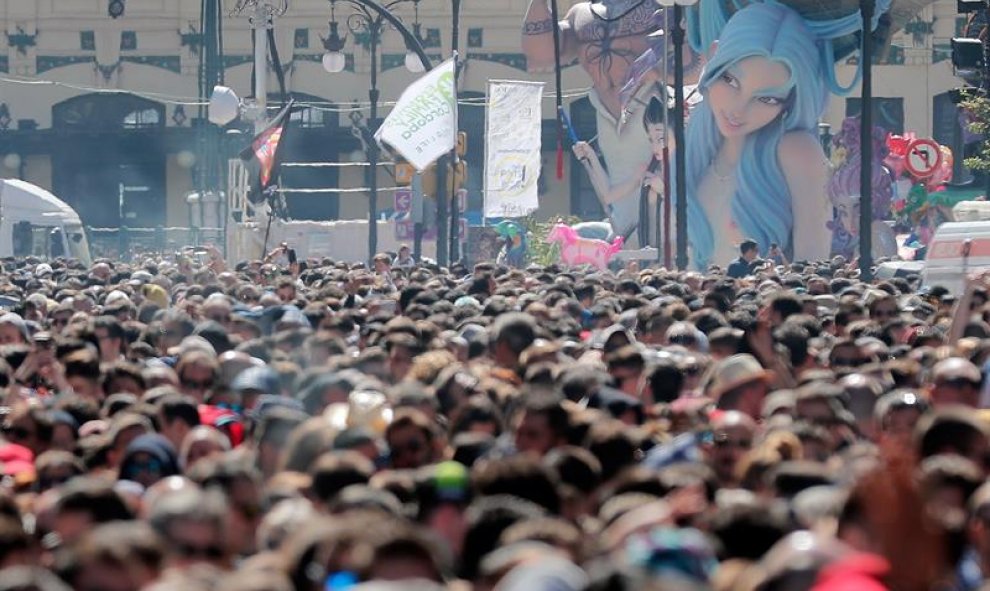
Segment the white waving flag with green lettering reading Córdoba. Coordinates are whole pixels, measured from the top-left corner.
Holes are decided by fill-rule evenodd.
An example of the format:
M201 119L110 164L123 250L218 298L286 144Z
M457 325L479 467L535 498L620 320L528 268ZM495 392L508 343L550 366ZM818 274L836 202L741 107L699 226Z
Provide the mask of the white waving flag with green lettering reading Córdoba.
M422 171L454 149L456 135L454 60L449 59L406 88L375 139Z

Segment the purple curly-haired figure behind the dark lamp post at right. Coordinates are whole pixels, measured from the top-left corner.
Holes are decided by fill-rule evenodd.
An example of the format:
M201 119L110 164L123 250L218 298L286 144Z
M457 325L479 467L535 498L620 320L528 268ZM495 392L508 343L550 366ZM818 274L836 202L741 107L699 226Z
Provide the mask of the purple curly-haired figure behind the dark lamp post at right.
M888 134L883 128L874 126L872 135L873 255L890 257L897 254L897 239L885 221L890 217L894 195L891 171L884 165L889 152ZM834 172L828 184L828 195L833 208L833 218L828 223L832 230L832 255L842 255L847 259L854 258L859 249L861 154L860 119L847 117L842 122L841 131L832 138Z

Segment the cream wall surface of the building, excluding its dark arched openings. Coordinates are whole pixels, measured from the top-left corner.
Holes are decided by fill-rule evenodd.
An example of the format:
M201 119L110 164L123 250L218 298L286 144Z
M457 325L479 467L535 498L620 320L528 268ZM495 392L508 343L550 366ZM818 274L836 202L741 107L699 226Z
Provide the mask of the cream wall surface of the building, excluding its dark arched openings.
M235 3L224 2L229 8ZM562 2L566 10L568 2ZM519 28L528 0L499 0L464 2L461 19L461 51L465 59L461 89L484 93L490 79L538 79L552 90L549 73L525 72L521 55ZM87 93L133 91L165 106L165 128L171 134L165 168L167 225L188 223L186 194L193 190L192 170L180 166L176 154L181 150L197 150L193 129L197 117L197 74L199 55L189 35L199 28L200 0L127 0L126 14L114 20L106 14L104 0L0 0L0 27L9 42L0 46L0 104L7 105L12 121L9 130L0 130L0 159L12 146L25 151L20 171L0 168L4 176L23 174L25 178L53 189L51 151L57 140L51 136L48 144L32 143L31 132L19 131L34 125L38 133L52 131L55 105ZM279 55L287 66L286 83L293 92L319 97L326 104L338 105L341 125L349 125L351 105L367 116L366 102L369 84L369 54L360 45L360 35L347 31L343 22L349 13L343 3L338 6L342 32L347 34L345 52L351 55L353 70L328 74L320 64L323 49L321 37L326 36L329 4L326 0L292 0L289 12L276 20ZM423 34L428 40L427 52L435 58L450 53L450 2L422 0L419 16ZM894 56L888 61L896 65L878 65L875 69L875 90L878 97L903 97L904 121L920 135L932 133L933 97L959 86L952 76L947 59L948 40L958 29L953 0L938 0L918 15L911 32L894 39ZM413 21L412 4L396 9L406 23ZM239 94L247 95L251 84L251 37L245 15L232 15L223 20L224 51L226 55L225 83ZM388 104L415 75L401 65L405 52L400 35L386 31L381 48L382 64L389 66L379 77L381 115ZM392 67L398 63L398 67ZM839 77L853 76L853 65L839 67ZM563 85L567 102L581 98L589 85L586 75L576 67L566 68ZM269 76L269 91L277 92L275 77ZM854 94L858 93L858 88ZM181 108L180 108L181 107ZM837 128L846 112L846 101L833 98L826 120ZM551 96L544 102L544 117L555 116ZM0 126L2 127L2 126ZM16 132L16 133L15 133ZM12 135L14 134L14 135ZM13 139L16 135L16 142ZM482 145L481 138L469 140ZM567 215L570 212L571 161L568 158L564 178L553 178L555 138L545 138L546 162L550 170L543 183L541 217ZM361 152L348 150L340 160L361 159ZM2 166L2 165L0 165ZM470 174L481 174L471 170ZM364 184L360 169L343 169L341 187ZM381 170L379 186L394 184L388 171ZM321 197L314 196L314 199ZM391 208L392 195L378 197L379 210ZM367 196L341 196L341 218L367 215Z

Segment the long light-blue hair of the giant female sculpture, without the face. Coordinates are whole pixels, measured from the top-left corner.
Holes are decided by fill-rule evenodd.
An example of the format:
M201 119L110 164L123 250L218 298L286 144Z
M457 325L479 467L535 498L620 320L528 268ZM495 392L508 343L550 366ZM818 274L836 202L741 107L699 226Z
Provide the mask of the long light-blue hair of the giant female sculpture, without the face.
M731 18L727 3L738 9ZM890 0L880 0L878 14L889 6ZM790 250L794 215L787 180L777 159L778 147L788 132L805 131L817 136L829 92L847 91L835 80L831 43L857 30L858 13L835 21L809 21L775 0L706 0L688 16L689 38L696 49L707 50L714 40L718 41L699 81L703 95L727 68L749 57L781 63L790 72L790 94L781 114L745 140L735 170L736 194L731 204L732 220L744 235L764 247L776 242ZM699 268L711 262L714 233L698 202L697 190L722 141L711 106L702 101L691 113L685 141L688 240L693 263Z

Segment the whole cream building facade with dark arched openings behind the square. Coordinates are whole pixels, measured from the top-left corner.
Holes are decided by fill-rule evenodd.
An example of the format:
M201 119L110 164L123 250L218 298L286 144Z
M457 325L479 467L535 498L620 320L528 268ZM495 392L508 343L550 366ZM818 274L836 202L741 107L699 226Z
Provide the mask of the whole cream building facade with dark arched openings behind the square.
M247 144L250 128L234 125L215 143L204 143L204 129L211 129L200 98L205 0L116 0L124 12L111 18L108 8L114 1L0 0L5 32L0 38L0 176L52 190L89 226L187 226L187 196L214 182L201 170L204 158L211 157L207 150L219 150L221 159L232 157ZM221 4L222 80L246 96L252 88L249 18L236 13L236 0ZM462 4L459 116L469 138L468 209L477 215L481 208L487 82L522 79L543 80L548 91L538 215L601 215L590 183L572 158L565 159L564 178L554 178L552 75L527 73L520 49L528 0ZM568 2L561 4L565 10ZM343 72L325 71L322 39L328 35L330 8L327 0L291 0L288 11L274 20L286 91L303 107L287 146L289 162L365 159L353 128L369 116L370 39L348 29L352 9L338 1L335 17L346 35L347 61ZM949 39L964 24L955 10L953 0L938 0L895 36L875 69L874 109L875 121L892 131L913 130L960 148L957 111L949 99L949 91L961 84L949 60ZM402 1L394 12L406 24L419 23L431 58L450 55L450 0ZM386 28L376 64L380 116L416 76L404 67L405 52L399 33ZM854 68L843 64L840 79L851 77ZM563 86L579 135L594 136L594 116L585 98L589 80L579 68L568 67ZM277 105L280 87L274 75L268 76L268 92L270 104ZM837 128L858 109L855 98L833 98L827 122ZM393 206L391 172L388 167L378 171L378 184L385 189L379 192L378 209L386 214ZM958 173L958 178L965 176L961 167ZM361 188L368 184L364 175L361 166L290 168L283 184L289 189ZM286 201L297 219L363 218L368 211L362 192L289 192Z

